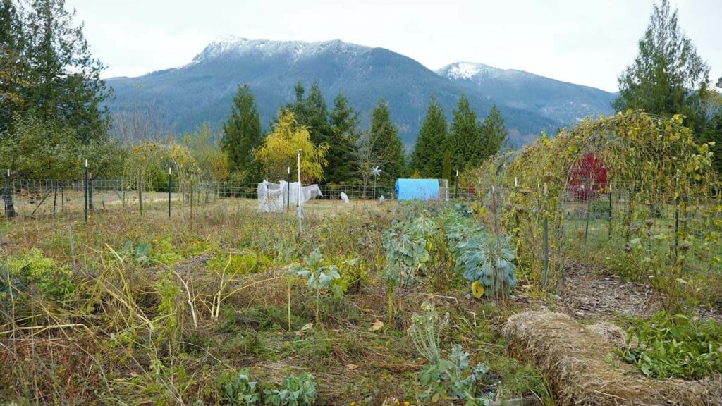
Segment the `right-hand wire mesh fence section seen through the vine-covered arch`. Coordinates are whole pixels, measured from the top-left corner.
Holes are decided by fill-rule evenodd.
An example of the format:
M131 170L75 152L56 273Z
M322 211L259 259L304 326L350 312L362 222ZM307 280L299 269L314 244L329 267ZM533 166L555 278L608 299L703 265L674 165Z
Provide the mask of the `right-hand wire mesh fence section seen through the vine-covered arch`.
M674 196L636 190L632 185L594 189L589 194L565 191L560 202L565 239L561 242L577 254L618 252L625 257L622 253L638 249L640 272L653 267L653 261L677 264L680 251L687 251L687 271L722 272L718 196L716 189Z

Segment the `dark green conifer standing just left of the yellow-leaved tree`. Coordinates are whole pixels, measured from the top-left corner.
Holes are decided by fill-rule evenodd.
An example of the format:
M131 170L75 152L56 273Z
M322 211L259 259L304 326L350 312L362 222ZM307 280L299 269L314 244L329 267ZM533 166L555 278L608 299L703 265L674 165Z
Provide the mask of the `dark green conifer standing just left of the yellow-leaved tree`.
M248 85L238 87L230 117L223 124L221 145L230 173L247 173L253 163L253 150L261 143L261 118Z

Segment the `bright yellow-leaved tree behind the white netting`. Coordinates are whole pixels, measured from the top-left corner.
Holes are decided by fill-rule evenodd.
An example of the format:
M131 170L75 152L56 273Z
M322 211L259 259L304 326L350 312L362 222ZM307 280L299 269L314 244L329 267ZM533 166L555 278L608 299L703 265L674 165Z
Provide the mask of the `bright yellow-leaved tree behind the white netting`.
M321 179L329 146L314 145L308 129L297 124L292 112L279 111L277 124L255 153L266 180L275 182L285 179L288 168L291 168L292 179L295 179L297 150L301 150L301 180L310 183Z

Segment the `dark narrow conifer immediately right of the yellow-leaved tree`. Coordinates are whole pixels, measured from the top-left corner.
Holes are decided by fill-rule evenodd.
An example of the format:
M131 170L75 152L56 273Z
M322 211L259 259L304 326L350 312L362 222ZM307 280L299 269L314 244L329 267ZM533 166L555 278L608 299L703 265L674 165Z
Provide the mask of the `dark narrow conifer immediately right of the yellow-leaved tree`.
M326 180L330 183L352 183L356 179L357 168L352 154L358 137L359 113L355 111L349 99L344 95L336 96L334 108L329 113L331 139L326 159Z

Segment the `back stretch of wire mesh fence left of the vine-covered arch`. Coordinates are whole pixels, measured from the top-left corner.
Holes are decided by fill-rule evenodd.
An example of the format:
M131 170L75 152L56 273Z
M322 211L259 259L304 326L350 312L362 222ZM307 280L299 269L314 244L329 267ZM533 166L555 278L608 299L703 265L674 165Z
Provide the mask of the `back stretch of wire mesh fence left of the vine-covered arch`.
M458 191L441 184L442 199L474 199L473 191ZM86 190L87 188L87 190ZM396 199L393 186L388 184L319 185L323 196L306 204L342 210L350 206L378 204ZM170 215L189 215L188 210L204 210L218 204L253 209L258 199L258 183L230 181L158 181L142 187L128 181L92 179L14 179L6 178L1 187L4 218L14 221L43 219L83 219L87 215L147 211L168 212ZM290 199L288 209L290 206Z

